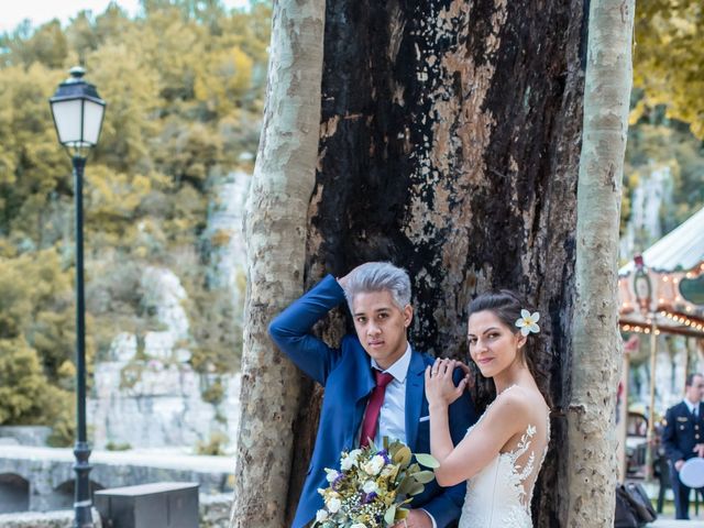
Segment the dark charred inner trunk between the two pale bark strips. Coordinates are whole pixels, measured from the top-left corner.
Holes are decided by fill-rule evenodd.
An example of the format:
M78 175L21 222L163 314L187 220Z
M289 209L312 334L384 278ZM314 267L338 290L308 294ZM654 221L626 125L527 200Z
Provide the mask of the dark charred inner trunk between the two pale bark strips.
M421 350L466 361L465 307L490 287L547 311L553 446L566 441L585 22L581 0L329 0L309 210L307 287L367 260L406 267ZM304 397L300 417L317 416L318 399ZM292 490L314 422L296 428ZM565 464L552 449L537 526L565 519Z

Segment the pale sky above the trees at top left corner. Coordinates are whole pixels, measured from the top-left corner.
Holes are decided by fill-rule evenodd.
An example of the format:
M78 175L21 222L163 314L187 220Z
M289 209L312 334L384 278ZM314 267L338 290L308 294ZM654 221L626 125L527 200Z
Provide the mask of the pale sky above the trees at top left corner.
M32 25L41 25L52 19L67 23L79 11L91 10L102 13L111 0L0 0L0 33L14 30L24 19ZM131 15L139 11L140 0L112 0ZM248 0L222 0L228 7L246 6Z

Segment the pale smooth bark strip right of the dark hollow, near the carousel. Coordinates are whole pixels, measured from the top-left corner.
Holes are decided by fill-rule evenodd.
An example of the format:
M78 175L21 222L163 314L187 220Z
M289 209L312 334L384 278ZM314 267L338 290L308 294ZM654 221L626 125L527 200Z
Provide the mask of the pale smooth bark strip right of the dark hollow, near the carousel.
M617 257L631 87L634 1L592 0L578 188L578 245L568 413L569 527L614 525Z

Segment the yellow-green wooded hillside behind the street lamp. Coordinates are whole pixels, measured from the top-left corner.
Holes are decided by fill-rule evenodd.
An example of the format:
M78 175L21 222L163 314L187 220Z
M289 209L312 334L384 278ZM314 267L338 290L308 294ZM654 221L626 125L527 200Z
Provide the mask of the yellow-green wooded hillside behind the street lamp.
M47 99L77 63L108 101L86 168L89 369L119 332L158 329L142 299L147 266L172 270L188 294L194 367L239 366L232 293L204 278L220 251L205 228L213 183L256 152L271 9L143 7L0 35L0 422L52 424L56 444L73 436L74 197Z

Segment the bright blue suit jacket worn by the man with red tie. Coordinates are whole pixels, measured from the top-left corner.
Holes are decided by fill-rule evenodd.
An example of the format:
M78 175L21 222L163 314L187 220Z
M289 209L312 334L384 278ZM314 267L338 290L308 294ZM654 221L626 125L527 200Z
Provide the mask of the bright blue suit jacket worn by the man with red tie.
M277 346L326 389L316 446L294 528L310 522L322 508L318 488L328 487L324 469L338 469L340 453L354 448L367 398L375 386L370 356L356 336L345 336L340 349L333 349L310 333L319 319L344 300L338 282L328 276L270 324L270 334ZM414 453L430 452L430 421L420 421L420 418L428 417L424 374L433 361L413 350L406 378L406 443ZM475 421L474 406L465 393L450 406L450 428L455 444ZM460 517L465 490L463 483L443 488L432 481L414 498L411 506L422 507L433 516L438 528L444 528Z

